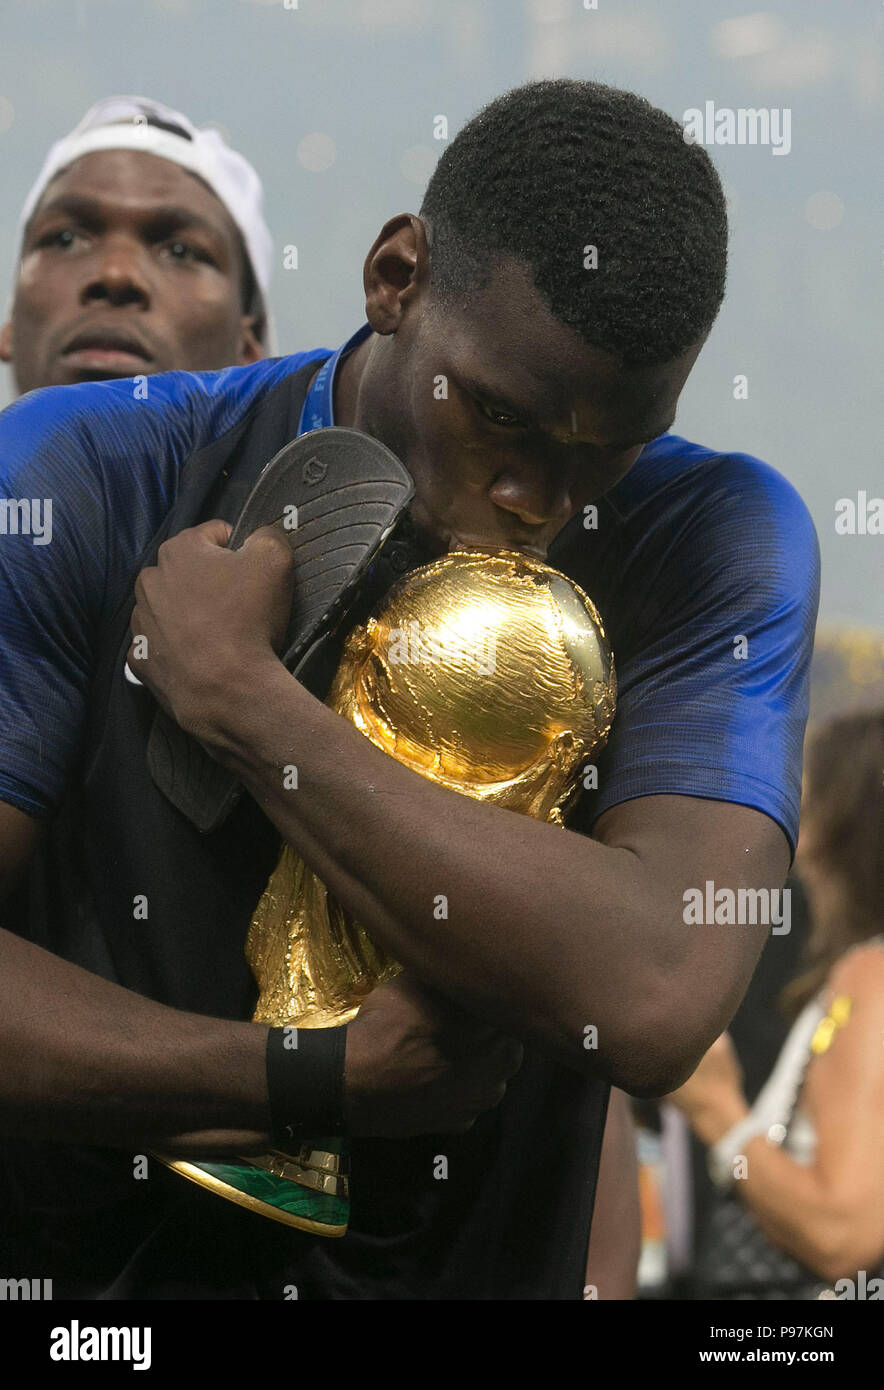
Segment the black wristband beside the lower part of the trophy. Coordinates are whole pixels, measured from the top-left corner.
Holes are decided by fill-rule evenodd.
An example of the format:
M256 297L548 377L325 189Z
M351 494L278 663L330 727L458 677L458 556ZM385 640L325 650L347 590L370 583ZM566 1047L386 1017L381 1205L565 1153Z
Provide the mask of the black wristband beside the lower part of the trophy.
M267 1094L275 1144L343 1134L346 1024L338 1029L271 1029Z

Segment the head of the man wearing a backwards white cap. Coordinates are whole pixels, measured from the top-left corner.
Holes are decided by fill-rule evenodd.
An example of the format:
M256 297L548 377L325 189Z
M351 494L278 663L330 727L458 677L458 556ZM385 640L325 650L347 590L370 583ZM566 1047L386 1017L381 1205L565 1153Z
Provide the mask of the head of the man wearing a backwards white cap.
M19 393L257 361L271 265L242 154L158 101L107 97L25 200L0 360Z

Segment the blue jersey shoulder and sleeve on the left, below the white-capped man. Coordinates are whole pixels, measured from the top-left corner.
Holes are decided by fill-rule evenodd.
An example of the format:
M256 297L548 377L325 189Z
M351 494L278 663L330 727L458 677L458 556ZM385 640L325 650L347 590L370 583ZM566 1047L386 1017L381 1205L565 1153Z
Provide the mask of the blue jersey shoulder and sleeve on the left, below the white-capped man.
M0 414L0 801L46 816L76 758L96 638L186 459L327 349L33 391Z

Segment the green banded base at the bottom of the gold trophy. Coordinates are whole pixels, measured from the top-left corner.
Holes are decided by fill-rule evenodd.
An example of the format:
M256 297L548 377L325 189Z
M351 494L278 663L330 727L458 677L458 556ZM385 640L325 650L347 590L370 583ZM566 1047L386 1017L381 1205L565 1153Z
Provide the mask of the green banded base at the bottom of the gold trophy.
M322 1140L331 1148L334 1140ZM190 1163L156 1154L163 1163L192 1183L225 1197L238 1207L268 1216L271 1220L307 1230L314 1236L346 1236L350 1216L349 1197L317 1193L288 1177L277 1177L247 1159L235 1163Z

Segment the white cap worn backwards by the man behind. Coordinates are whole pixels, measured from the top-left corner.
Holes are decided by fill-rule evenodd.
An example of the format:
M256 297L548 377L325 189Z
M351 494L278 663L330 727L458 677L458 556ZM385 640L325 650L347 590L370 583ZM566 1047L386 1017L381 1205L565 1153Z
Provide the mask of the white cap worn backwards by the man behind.
M150 121L158 124L149 124ZM164 126L174 126L167 129ZM143 150L163 160L179 164L197 174L224 203L242 232L249 261L254 272L264 318L268 348L272 349L272 322L267 292L272 271L274 243L264 221L264 189L261 181L242 154L232 150L218 131L197 128L161 101L146 96L108 96L96 101L75 129L51 146L36 183L25 199L19 218L19 243L28 220L50 181L82 154L95 150Z

